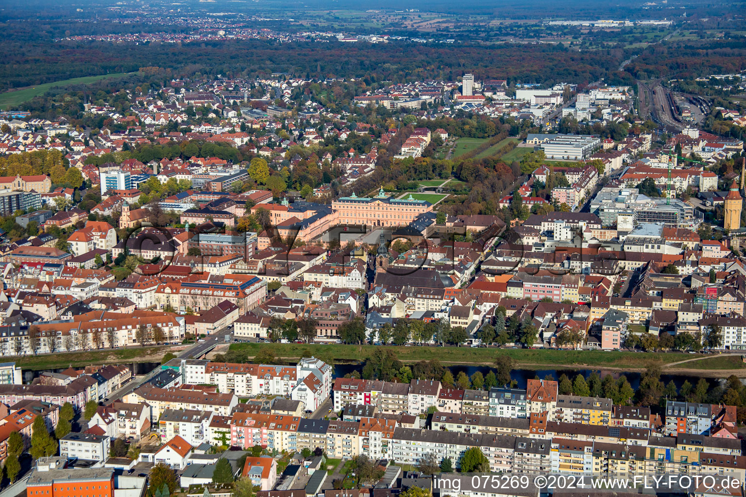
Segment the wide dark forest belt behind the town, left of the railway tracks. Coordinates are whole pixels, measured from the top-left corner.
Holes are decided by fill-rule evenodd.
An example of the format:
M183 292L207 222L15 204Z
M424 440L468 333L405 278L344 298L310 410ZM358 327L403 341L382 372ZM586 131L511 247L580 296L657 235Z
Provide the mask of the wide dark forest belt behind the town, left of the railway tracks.
M456 80L466 72L480 78L527 83L586 82L614 72L621 50L570 51L560 45L435 45L396 42L279 43L245 40L122 45L107 42L5 42L0 65L4 88L71 77L134 72L145 66L171 68L175 76L366 77L394 83Z

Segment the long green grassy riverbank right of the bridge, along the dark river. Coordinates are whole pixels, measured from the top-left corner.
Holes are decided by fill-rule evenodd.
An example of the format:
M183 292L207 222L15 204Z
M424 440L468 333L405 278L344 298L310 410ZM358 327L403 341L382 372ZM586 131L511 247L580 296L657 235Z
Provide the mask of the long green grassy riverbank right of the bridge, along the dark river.
M296 360L301 354L312 353L322 361L330 363L365 361L376 349L391 349L405 364L417 361L438 359L443 364L492 364L498 355L507 355L515 360L516 367L544 369L550 366L567 367L619 367L645 368L649 364L665 364L697 358L695 354L681 352L604 352L601 350L554 350L554 349L495 349L470 347L434 346L375 346L343 344L231 344L231 350L245 351L248 358L254 357L261 348L269 348L277 357ZM708 369L733 369L733 361L728 356L700 355L709 361ZM682 364L697 364L698 361Z

